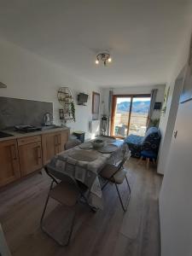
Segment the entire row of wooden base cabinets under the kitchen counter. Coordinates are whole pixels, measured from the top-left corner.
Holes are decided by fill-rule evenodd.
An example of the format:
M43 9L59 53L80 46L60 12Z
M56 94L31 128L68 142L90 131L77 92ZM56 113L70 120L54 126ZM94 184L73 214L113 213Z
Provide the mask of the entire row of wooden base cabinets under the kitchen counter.
M64 150L68 137L64 130L0 142L0 186L41 169Z

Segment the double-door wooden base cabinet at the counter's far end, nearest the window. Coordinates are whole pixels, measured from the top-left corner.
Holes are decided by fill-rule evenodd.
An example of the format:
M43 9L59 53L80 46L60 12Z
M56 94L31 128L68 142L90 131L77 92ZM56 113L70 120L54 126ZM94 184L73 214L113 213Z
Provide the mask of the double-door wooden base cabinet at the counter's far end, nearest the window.
M50 132L42 135L43 163L46 165L55 154L64 150L68 131Z

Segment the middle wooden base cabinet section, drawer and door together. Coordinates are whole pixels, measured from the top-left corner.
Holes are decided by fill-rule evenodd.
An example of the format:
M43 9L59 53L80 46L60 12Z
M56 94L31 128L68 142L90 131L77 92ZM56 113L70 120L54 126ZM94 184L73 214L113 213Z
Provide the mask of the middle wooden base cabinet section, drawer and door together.
M21 177L42 168L41 136L18 139Z

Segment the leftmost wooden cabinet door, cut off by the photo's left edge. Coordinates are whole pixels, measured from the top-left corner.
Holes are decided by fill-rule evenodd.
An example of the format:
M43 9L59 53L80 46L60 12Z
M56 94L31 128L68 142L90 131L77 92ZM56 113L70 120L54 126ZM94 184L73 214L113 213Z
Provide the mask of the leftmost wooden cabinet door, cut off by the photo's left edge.
M0 186L20 178L20 162L16 140L0 143Z

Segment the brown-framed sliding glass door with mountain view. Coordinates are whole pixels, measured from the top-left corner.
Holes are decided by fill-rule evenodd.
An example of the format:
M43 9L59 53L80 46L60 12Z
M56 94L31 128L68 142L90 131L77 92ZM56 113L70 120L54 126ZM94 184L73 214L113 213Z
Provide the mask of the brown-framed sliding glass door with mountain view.
M111 135L144 136L148 123L150 95L113 96Z

